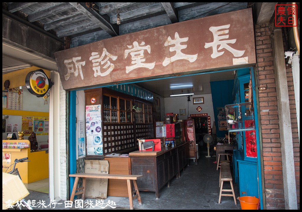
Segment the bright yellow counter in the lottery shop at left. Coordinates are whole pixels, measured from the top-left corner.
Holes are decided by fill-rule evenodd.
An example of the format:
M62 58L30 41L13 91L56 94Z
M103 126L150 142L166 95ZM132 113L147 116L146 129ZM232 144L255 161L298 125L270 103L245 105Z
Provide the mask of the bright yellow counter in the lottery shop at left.
M4 143L20 143L29 144L29 148L3 148ZM2 140L2 172L6 172L7 168L14 164L14 160L28 157L30 162L17 163L19 174L23 183L31 183L38 180L48 178L48 153L46 151L31 152L30 141L28 140ZM12 165L7 172L12 170Z

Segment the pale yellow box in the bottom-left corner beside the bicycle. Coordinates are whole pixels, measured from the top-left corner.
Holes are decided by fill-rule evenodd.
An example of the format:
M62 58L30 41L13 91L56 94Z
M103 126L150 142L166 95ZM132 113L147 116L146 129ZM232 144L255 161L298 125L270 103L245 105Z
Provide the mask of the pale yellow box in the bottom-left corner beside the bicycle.
M27 188L17 175L2 172L2 210L7 209L8 205L29 195Z

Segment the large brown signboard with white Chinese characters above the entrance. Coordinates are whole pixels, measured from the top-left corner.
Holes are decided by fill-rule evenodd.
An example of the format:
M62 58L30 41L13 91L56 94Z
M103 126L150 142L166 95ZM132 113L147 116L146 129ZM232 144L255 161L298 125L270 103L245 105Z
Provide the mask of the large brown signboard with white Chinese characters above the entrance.
M169 76L201 71L200 67L207 70L255 64L255 40L250 30L253 29L252 10L231 13L155 27L55 52L63 88ZM227 21L221 24L221 20ZM193 28L196 30L188 30ZM129 92L128 89L124 91ZM133 93L146 96L141 90Z

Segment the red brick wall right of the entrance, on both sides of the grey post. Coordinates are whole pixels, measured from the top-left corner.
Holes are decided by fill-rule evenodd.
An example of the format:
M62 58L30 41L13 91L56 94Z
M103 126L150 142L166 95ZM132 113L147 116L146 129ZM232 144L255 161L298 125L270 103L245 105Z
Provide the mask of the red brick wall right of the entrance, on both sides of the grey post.
M277 110L278 104L271 40L272 29L270 26L270 24L259 24L255 26L257 81L259 87L266 87L266 90L259 90L265 207L266 209L285 209L279 117ZM291 124L293 132L294 161L299 209L300 149L297 133L297 119L291 69L287 69L287 78L291 108Z

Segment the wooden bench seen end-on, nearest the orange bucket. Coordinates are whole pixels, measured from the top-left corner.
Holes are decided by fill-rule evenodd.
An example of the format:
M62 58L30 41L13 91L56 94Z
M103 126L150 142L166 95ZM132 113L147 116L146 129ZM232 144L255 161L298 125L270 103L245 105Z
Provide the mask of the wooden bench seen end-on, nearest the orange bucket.
M232 189L223 189L222 187L223 187L223 182L224 181L229 181L230 184L231 184ZM233 196L235 205L237 204L232 181L233 181L233 178L232 178L232 174L231 174L230 164L229 163L221 163L220 176L219 176L220 192L219 192L218 204L220 204L221 196ZM222 193L222 191L228 191L228 192L231 191L232 194Z

